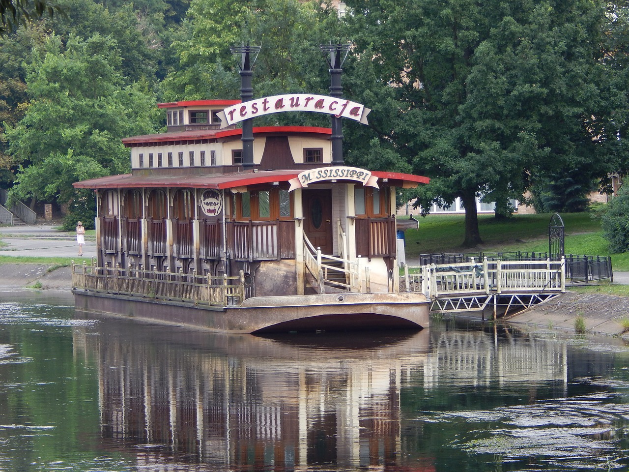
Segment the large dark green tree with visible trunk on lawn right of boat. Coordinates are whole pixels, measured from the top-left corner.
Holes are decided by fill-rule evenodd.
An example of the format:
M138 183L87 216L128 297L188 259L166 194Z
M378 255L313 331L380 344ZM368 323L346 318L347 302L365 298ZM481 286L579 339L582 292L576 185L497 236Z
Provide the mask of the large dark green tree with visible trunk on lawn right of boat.
M532 176L618 168L626 84L604 62L606 3L346 3L357 61L376 79L357 98L389 110L374 107L371 136L431 177L416 192L423 209L462 199L465 247L482 242L477 197L504 212Z

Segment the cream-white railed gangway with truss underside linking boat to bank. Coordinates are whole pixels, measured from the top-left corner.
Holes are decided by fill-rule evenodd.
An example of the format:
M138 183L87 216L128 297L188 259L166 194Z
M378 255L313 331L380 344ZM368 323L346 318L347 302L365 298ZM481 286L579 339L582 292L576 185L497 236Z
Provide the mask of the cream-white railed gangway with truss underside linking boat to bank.
M506 315L565 293L565 259L559 261L489 261L404 265L406 291L421 292L430 310Z

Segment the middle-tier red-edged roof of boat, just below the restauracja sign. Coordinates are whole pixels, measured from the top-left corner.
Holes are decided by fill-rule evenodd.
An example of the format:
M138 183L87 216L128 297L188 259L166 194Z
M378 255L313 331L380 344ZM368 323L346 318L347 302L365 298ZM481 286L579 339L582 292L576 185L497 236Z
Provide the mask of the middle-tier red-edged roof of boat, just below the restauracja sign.
M318 126L258 126L253 128L253 135L266 135L270 133L307 133L329 136L332 134L330 128L319 128ZM172 133L159 133L154 135L133 136L123 138L125 146L131 144L163 143L168 141L194 141L198 139L230 138L242 135L242 128L232 128L231 130L193 130Z

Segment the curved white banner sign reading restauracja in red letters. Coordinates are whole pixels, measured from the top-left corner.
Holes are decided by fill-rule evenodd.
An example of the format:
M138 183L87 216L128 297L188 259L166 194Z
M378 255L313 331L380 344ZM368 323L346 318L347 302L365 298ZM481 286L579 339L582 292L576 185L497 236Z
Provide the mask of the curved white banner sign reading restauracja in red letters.
M342 98L298 93L257 98L245 103L238 103L220 111L218 116L221 118L222 129L234 123L255 118L255 116L281 113L282 111L315 111L316 113L334 115L337 118L349 118L367 125L367 115L371 110L360 103Z

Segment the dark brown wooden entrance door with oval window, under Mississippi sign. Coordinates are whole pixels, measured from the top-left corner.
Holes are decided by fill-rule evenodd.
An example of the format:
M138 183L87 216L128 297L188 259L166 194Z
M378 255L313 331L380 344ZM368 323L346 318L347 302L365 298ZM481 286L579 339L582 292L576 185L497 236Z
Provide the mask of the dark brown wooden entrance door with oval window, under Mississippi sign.
M304 232L310 242L323 254L332 254L332 191L317 189L302 191Z

